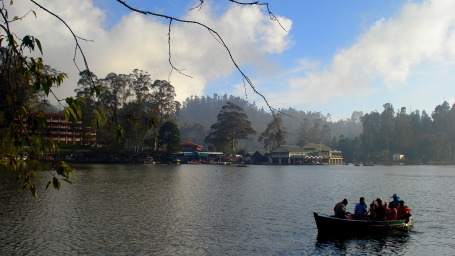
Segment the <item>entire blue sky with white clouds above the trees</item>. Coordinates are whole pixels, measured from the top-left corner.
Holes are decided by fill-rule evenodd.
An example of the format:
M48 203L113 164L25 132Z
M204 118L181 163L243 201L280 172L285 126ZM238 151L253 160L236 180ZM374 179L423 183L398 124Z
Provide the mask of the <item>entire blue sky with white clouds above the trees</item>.
M154 79L169 79L168 20L132 14L113 0L41 2L79 36L93 40L83 49L99 77L138 68ZM276 108L321 111L337 120L353 111L382 111L385 103L428 113L444 100L454 103L455 1L264 1L286 30L268 19L265 8L206 0L200 10L190 10L198 2L127 1L215 29ZM16 11L30 8L37 9ZM36 20L21 26L47 45L45 60L70 74L58 90L59 96L70 95L78 78L74 43L58 21L37 11ZM245 95L241 76L206 30L174 23L171 45L173 64L193 76L174 72L170 77L179 100L228 93L264 105L251 90Z

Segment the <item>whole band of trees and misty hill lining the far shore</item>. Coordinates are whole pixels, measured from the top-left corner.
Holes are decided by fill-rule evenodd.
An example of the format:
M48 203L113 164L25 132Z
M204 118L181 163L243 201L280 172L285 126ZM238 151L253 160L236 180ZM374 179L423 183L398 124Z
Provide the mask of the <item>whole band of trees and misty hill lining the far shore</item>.
M89 79L102 91L96 99ZM355 111L351 118L335 122L330 114L293 108L279 109L273 118L255 102L227 94L191 96L180 105L171 84L152 80L138 69L105 78L83 71L76 93L83 125L97 128L98 144L110 152L164 149L168 158L184 141L229 154L322 143L341 150L347 162L388 162L395 153L411 162L454 160L455 107L448 102L438 105L431 116L395 110L387 103L381 113ZM33 102L36 108L52 111L39 97ZM103 125L106 120L111 125Z

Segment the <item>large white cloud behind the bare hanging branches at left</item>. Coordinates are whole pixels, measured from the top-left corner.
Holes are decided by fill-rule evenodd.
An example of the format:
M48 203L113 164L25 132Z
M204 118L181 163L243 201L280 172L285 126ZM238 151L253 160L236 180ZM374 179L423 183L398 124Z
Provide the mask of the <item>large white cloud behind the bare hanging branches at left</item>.
M168 79L171 68L168 63L168 20L131 13L106 30L106 14L91 0L40 2L65 20L78 36L93 40L81 41L81 45L91 70L99 77L109 72L130 73L138 68L149 72L152 79ZM72 61L75 43L71 34L55 17L37 6L21 2L15 3L14 8L19 16L29 9L36 11L36 19L29 15L17 22L16 29L41 40L44 60L70 75L58 94L62 97L72 95L79 76ZM267 66L266 54L280 53L292 44L288 32L255 7L232 5L216 17L210 5L204 3L200 11L189 12L183 19L195 19L215 29L241 65ZM290 20L280 17L280 22L290 30ZM202 94L210 80L226 77L235 70L227 52L204 28L174 21L171 35L173 64L194 77L173 73L170 80L178 99ZM84 69L80 55L77 60L78 66Z

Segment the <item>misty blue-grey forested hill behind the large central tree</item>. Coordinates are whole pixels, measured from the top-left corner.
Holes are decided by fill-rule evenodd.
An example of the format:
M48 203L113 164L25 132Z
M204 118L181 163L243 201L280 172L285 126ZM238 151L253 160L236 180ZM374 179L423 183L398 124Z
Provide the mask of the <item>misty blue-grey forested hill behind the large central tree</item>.
M187 98L180 110L177 122L180 127L182 141L191 141L204 145L204 139L208 130L217 121L217 115L227 102L232 102L243 108L256 130L256 135L249 141L240 141L240 147L246 151L264 149L263 142L258 141L259 136L273 120L268 109L259 108L255 102L227 94L213 96L192 96ZM303 145L307 142L317 142L322 139L324 144L332 145L333 138L341 135L345 138L354 138L362 132L360 122L361 112L354 112L352 117L346 120L332 122L330 114L296 110L293 108L279 109L283 115L283 128L286 130L286 144Z

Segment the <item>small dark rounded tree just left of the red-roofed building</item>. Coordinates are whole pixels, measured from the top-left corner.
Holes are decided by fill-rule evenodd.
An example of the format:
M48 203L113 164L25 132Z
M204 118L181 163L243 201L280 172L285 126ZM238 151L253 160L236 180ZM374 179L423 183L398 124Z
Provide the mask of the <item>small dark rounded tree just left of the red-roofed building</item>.
M166 149L165 161L168 161L171 154L180 151L180 131L172 121L165 122L159 131L159 146Z

